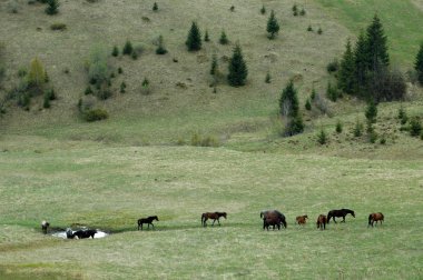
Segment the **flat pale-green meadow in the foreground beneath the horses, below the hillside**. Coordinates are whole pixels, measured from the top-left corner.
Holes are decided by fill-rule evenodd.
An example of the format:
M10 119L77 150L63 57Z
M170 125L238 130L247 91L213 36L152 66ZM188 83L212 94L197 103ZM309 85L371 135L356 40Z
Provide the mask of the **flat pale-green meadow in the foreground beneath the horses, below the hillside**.
M0 167L2 277L7 271L38 271L39 278L61 271L83 279L422 273L421 161L78 144L38 153L10 150ZM343 207L356 218L323 232L315 228L319 213ZM258 213L267 208L286 214L287 230L262 230ZM201 228L200 213L216 210L227 211L228 219ZM373 211L386 221L367 229ZM136 219L153 213L160 219L156 230L137 232ZM305 213L308 223L295 226L295 217ZM114 234L57 240L41 234L42 219Z

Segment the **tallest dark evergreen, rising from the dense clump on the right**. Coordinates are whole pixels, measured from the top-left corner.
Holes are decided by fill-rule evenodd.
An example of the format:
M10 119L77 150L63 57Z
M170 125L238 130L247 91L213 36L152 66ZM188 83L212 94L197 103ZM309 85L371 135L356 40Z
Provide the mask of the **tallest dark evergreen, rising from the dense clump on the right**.
M377 14L374 16L373 22L367 27L366 39L370 62L368 70L377 73L382 68L385 68L390 64L386 36L384 34L383 27Z

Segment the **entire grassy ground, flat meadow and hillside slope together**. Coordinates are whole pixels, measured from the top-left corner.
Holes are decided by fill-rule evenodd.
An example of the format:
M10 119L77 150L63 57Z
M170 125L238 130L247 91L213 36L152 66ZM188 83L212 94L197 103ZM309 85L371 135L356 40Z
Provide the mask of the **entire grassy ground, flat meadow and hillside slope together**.
M401 107L423 119L422 88L407 82L403 102L378 104L374 128L384 144L353 136L355 123L365 123L363 101L344 96L326 100L326 113L304 110L313 88L325 96L334 81L327 63L375 12L393 64L410 70L423 40L421 0L175 0L157 1L157 12L153 0L62 0L53 17L23 0L11 13L9 2L0 0L0 97L38 57L58 100L43 109L35 98L29 111L10 102L0 114L0 279L422 278L423 141L397 119ZM305 17L292 14L294 3ZM265 31L270 10L281 23L275 40ZM198 52L185 46L191 21L212 39ZM50 30L52 23L67 29ZM228 46L218 43L222 30ZM165 56L155 54L159 34ZM114 78L112 97L96 100L110 118L83 121L77 102L90 52L121 50L126 40L144 51L137 60L108 59L111 69L124 70ZM237 42L249 76L245 87L232 88L224 77ZM208 74L215 53L217 92ZM282 138L278 99L289 79L306 128ZM122 81L126 93L119 93ZM317 143L319 130L326 144ZM196 147L195 138L215 144ZM341 208L356 218L316 229L318 214ZM264 209L285 213L288 228L263 231ZM226 211L228 219L203 228L206 211ZM385 223L367 228L371 212L383 212ZM159 217L156 229L137 231L137 219L151 214ZM301 214L309 217L304 227L294 222ZM110 236L45 236L45 219Z

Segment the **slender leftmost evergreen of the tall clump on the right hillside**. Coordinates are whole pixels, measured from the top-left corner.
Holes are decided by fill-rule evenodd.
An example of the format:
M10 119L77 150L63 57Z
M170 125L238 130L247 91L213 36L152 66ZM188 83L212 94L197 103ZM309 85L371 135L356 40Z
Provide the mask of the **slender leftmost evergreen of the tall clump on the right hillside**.
M342 57L340 72L337 74L337 87L346 93L352 94L355 87L355 64L351 41L346 42L346 50Z

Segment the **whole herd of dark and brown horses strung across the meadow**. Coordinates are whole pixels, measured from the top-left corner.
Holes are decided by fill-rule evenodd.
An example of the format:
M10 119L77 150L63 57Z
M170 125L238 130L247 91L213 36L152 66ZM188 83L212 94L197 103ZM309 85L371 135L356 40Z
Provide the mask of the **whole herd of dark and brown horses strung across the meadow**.
M338 209L338 210L331 210L328 211L327 216L319 214L317 217L317 222L316 222L317 229L325 230L326 224L328 224L331 220L333 220L336 223L335 218L342 218L341 222L345 222L345 217L347 214L351 214L355 218L355 212L351 209L345 209L345 208ZM222 217L226 219L227 213L226 212L205 212L201 214L201 226L207 227L207 220L213 220L212 227L215 226L216 221L220 226L219 219ZM269 227L273 227L273 230L275 230L276 228L281 230L281 227L284 227L285 229L287 228L286 218L278 210L263 210L260 212L260 219L263 219L263 230L269 230ZM308 219L308 216L306 214L298 216L295 218L297 224L305 224L307 219ZM153 224L153 221L158 221L158 220L159 219L157 216L140 218L137 221L138 230L142 230L142 226L145 223L147 224L148 229L150 228L150 226L154 229L155 226ZM371 213L368 216L367 227L371 227L371 226L373 227L375 222L376 222L376 226L377 226L377 222L382 224L383 221L384 221L383 213L381 212ZM47 233L47 229L49 228L49 226L50 223L47 221L41 222L41 230L45 234ZM83 230L77 230L77 231L72 231L68 229L66 231L68 239L94 238L96 233L97 233L97 230L92 230L92 229L83 229Z

